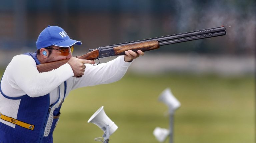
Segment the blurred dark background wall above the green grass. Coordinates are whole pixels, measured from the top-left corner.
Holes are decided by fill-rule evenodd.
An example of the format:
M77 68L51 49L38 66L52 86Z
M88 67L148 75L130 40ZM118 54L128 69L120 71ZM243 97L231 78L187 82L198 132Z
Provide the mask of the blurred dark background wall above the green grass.
M0 66L14 55L34 52L47 25L60 26L72 39L82 41L73 56L100 46L225 25L226 36L163 46L146 53L147 59L138 60L130 70L138 72L139 65L157 55L162 71L253 73L255 9L254 0L2 0ZM221 61L236 67L223 69L229 64ZM172 68L164 68L170 64ZM201 70L204 65L209 68Z

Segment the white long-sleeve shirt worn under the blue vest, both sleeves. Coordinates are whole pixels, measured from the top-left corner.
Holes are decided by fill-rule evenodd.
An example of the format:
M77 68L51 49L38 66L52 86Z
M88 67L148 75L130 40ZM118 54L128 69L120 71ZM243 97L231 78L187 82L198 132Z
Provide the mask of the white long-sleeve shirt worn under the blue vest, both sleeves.
M83 77L74 78L69 64L49 71L39 73L31 56L17 55L7 66L1 81L3 93L9 97L28 95L39 97L51 92L57 92L58 86L67 81L67 94L79 87L112 83L120 80L131 63L124 61L124 56L97 66L85 64ZM54 103L58 95L50 94L50 103Z

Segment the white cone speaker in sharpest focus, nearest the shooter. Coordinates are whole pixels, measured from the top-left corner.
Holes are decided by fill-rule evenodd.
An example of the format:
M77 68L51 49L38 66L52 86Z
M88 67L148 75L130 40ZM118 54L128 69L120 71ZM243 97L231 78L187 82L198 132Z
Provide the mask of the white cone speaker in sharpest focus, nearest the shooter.
M93 123L101 128L106 133L106 126L109 125L109 135L113 134L117 130L117 125L110 120L103 110L103 106L100 107L88 120L88 123Z

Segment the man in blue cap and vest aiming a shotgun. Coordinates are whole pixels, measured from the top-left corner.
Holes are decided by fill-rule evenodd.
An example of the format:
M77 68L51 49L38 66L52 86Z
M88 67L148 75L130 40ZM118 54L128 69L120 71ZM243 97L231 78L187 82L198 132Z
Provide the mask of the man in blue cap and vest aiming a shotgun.
M144 55L125 51L107 63L72 57L72 40L58 26L48 26L36 42L37 52L15 56L0 83L0 143L51 143L62 102L70 90L120 80L131 61ZM70 59L69 59L70 58ZM36 65L69 59L59 68L39 73ZM75 78L81 76L81 78Z

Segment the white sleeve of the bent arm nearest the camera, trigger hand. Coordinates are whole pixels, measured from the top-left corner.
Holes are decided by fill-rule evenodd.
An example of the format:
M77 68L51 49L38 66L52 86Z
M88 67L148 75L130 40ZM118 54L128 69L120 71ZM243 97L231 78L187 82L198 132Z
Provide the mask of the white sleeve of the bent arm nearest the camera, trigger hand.
M10 87L22 90L30 97L46 95L74 75L69 64L39 73L34 59L27 55L15 56L5 73Z

